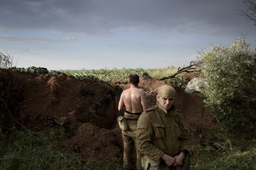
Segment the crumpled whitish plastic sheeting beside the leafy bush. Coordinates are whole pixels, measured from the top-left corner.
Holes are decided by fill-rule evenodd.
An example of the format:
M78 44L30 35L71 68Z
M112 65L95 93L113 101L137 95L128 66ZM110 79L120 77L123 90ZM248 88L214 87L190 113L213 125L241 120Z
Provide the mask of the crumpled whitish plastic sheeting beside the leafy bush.
M193 92L201 92L204 87L206 87L208 84L207 82L200 77L192 78L188 85L186 86L185 92L187 93L193 93Z

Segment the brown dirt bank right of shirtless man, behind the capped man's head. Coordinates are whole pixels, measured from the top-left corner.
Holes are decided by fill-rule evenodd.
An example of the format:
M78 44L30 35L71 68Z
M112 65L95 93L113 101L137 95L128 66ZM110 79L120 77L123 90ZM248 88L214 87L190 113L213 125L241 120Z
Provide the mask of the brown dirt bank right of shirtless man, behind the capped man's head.
M166 84L170 85L149 76L141 77L139 86L147 93L148 106L156 104L157 88ZM186 93L184 89L174 85L172 86L176 91L174 105L182 113L184 124L194 121L209 129L216 128L211 112L209 108L204 106L203 98L200 94Z

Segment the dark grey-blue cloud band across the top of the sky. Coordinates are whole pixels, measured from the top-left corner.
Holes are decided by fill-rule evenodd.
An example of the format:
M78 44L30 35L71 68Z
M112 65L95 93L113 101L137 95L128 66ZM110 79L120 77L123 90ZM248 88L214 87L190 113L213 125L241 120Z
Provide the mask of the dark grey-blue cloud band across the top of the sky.
M0 29L110 34L111 29L253 33L242 0L2 0Z

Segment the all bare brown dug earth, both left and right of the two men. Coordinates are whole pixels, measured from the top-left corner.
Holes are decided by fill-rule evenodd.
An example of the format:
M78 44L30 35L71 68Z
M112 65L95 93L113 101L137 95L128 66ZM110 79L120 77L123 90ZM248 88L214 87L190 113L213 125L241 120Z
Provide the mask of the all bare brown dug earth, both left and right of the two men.
M67 135L60 141L60 150L106 160L122 156L121 131L116 118L123 112L117 110L117 105L128 84L110 85L97 79L80 81L62 73L58 76L12 74L15 74L15 84L19 86L19 101L13 111L16 120L24 127L43 131L63 123ZM0 78L4 78L1 70ZM140 78L139 86L147 94L148 106L155 105L157 88L165 84L148 76ZM175 106L182 113L184 124L193 121L214 130L214 119L204 106L203 98L186 93L180 87L174 88Z

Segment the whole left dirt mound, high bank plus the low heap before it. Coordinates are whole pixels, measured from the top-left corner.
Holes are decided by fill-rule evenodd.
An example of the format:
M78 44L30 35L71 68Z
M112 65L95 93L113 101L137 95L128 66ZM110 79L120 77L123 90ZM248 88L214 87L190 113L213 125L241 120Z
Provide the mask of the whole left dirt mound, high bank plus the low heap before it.
M9 85L7 75L0 70L1 85ZM83 152L85 157L93 153L97 157L106 157L107 151L110 153L111 150L113 155L108 154L107 158L121 156L120 139L115 137L118 133L108 130L113 129L117 117L115 91L111 85L97 79L79 81L65 74L10 72L10 75L15 75L11 80L19 86L21 95L15 107L10 105L10 110L16 112L16 120L24 127L43 131L56 123L64 123L67 137L61 140L62 150ZM0 116L2 118L4 114ZM91 133L94 133L93 137ZM99 150L101 154L97 152Z

